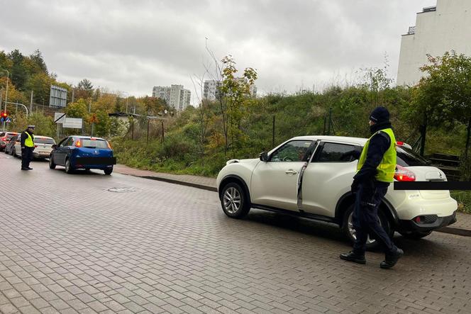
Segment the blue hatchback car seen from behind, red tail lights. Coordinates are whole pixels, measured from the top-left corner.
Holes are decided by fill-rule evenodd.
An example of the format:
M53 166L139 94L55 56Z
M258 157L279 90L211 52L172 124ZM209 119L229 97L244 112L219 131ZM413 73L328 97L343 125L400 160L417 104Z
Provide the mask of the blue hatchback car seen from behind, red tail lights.
M52 146L49 157L49 168L65 166L65 172L70 174L75 169L101 169L105 174L113 172L113 150L109 142L103 138L90 136L70 136Z

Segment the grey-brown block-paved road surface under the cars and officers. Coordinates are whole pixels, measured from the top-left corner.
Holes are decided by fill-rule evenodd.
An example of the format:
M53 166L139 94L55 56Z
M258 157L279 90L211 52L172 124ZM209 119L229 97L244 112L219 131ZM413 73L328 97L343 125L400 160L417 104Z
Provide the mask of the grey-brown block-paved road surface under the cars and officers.
M212 191L32 167L0 154L1 313L471 313L470 237L396 237L406 256L388 271L379 253L340 261L333 225L234 220Z

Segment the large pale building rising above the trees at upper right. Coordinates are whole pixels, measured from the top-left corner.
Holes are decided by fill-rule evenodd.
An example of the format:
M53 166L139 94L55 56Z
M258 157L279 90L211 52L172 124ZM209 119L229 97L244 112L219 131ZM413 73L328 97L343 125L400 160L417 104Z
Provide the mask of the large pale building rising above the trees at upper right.
M451 50L471 56L471 0L437 0L436 6L417 13L416 26L402 35L397 84L417 84L427 55Z

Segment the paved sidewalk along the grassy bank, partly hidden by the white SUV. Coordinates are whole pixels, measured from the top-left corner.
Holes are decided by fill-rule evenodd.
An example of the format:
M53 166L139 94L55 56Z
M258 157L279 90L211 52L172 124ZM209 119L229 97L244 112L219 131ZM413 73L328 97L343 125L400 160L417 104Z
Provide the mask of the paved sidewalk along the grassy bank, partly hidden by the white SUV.
M166 181L174 184L193 186L199 189L217 191L216 179L206 176L191 176L187 174L167 174L163 172L152 172L149 170L134 169L123 164L116 164L114 171L120 174L139 176L141 178ZM449 227L440 228L438 231L451 233L453 235L465 235L471 237L471 215L465 213L457 214L458 221Z

